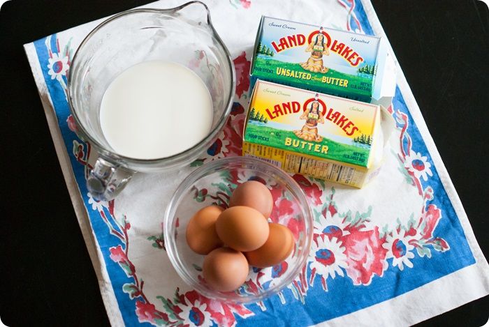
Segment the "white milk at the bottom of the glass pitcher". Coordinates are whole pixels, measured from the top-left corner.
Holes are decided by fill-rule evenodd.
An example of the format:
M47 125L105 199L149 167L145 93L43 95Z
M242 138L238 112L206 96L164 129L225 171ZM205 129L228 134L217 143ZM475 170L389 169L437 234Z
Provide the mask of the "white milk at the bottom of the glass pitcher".
M110 83L100 108L115 153L138 159L175 155L210 131L212 99L196 73L170 61L145 61Z

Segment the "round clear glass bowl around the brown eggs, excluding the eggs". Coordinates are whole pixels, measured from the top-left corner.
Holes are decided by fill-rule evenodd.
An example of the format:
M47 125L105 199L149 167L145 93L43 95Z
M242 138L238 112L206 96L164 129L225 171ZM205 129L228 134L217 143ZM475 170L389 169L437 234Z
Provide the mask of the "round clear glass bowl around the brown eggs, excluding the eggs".
M215 291L203 279L201 267L205 256L189 248L185 230L200 208L212 204L227 208L233 190L249 180L261 181L272 192L274 209L269 221L291 229L294 250L277 266L250 267L247 281L237 291ZM304 192L289 174L261 160L231 157L205 164L182 181L168 205L163 228L166 252L184 282L208 298L249 303L276 294L298 275L309 254L313 220Z

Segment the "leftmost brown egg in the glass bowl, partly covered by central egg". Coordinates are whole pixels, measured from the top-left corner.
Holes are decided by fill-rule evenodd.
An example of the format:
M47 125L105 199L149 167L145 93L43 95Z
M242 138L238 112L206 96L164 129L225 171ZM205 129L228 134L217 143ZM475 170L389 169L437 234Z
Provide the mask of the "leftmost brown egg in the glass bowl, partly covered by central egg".
M197 211L189 221L185 236L187 244L194 252L207 254L222 246L216 232L216 220L223 210L220 206L206 206Z

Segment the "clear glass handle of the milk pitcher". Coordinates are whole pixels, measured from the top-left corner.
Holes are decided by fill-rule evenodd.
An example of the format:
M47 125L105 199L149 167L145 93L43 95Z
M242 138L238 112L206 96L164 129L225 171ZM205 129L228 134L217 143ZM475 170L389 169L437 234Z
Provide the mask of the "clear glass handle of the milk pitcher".
M89 172L87 188L94 199L110 201L124 190L133 174L131 170L100 157Z

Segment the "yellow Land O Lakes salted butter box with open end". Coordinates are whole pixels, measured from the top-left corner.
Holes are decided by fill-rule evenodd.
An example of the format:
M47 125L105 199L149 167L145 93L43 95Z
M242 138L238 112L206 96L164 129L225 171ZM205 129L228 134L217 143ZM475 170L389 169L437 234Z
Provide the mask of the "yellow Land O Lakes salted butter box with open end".
M380 167L379 105L258 80L242 154L286 172L361 188Z

